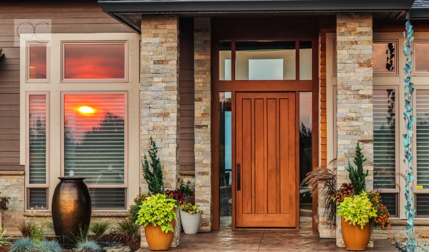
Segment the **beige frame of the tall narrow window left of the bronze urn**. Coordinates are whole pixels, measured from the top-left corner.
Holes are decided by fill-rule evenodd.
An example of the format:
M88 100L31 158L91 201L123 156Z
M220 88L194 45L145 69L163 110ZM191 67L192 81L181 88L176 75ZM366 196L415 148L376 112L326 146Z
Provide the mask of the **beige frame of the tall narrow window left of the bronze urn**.
M28 64L27 64L28 65ZM46 98L46 167L45 167L45 172L46 172L46 180L45 183L31 183L30 184L30 145L29 145L29 140L30 140L30 120L29 120L29 115L30 115L30 96L31 95L45 95ZM49 91L27 91L25 92L25 99L26 99L26 107L25 107L25 132L26 132L26 155L25 155L25 210L40 210L40 211L50 211L50 207L49 207L49 179L50 179L50 163L49 163L49 154L50 154L50 148L49 148L49 124L50 124L50 120L49 120L49 115L50 115L50 111L49 111ZM30 189L31 188L46 188L46 208L30 208Z

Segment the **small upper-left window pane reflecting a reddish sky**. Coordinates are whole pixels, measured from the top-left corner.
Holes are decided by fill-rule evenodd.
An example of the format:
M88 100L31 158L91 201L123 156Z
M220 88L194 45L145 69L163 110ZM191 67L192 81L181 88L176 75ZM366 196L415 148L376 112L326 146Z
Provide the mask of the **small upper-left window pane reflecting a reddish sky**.
M46 79L46 44L30 44L28 79Z

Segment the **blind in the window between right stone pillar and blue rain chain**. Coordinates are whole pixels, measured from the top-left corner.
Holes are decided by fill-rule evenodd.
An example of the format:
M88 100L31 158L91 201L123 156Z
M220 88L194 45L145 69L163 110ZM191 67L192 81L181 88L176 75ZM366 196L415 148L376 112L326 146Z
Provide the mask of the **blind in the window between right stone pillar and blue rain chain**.
M396 188L395 90L372 92L374 123L374 186Z

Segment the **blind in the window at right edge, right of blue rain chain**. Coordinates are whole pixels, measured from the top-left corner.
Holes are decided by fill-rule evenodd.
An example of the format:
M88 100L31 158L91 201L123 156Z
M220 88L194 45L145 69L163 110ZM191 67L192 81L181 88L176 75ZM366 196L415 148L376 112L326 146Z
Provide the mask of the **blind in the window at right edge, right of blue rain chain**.
M416 90L417 186L429 189L429 90Z

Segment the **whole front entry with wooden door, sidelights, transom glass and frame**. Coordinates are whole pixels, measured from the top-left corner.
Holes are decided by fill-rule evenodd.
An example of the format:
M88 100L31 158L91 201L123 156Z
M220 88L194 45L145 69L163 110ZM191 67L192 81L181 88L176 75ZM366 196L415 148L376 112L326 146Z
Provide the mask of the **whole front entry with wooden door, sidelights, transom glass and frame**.
M294 22L212 19L213 229L316 228L300 179L318 166L318 34Z

